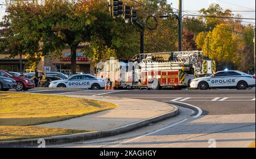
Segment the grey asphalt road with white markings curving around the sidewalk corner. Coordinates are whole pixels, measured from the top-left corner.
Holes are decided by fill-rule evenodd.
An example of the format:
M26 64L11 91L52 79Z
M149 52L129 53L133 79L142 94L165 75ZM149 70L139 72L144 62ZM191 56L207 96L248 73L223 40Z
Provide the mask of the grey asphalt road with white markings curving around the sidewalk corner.
M139 98L167 102L180 108L177 117L126 134L49 147L248 147L255 140L255 90L34 93Z

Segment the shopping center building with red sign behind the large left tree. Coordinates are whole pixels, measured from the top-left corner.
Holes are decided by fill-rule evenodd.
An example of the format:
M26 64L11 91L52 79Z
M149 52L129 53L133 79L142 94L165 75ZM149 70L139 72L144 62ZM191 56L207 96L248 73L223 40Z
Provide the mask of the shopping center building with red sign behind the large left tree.
M77 58L76 58L76 72L83 72L85 74L94 74L95 68L89 58L81 52L82 47L77 49ZM71 72L71 50L65 49L62 51L62 56L60 58L52 57L42 57L41 61L38 63L38 71L57 71L68 73ZM0 53L0 70L20 72L20 67L22 72L34 72L35 70L29 70L26 63L27 58L22 55L21 61L22 65L20 66L20 56L14 58L8 58L9 55L3 55Z

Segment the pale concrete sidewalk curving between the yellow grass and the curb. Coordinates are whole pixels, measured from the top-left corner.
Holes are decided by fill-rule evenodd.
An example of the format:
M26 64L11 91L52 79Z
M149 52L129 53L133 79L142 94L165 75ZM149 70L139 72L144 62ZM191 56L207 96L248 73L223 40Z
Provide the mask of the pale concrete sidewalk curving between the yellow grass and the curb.
M69 96L89 98L112 102L118 107L111 110L101 111L95 114L85 115L79 118L69 119L67 121L40 124L40 127L71 128L79 130L109 130L125 126L127 124L143 121L162 114L170 113L176 108L163 102L150 100L137 100L130 98L113 98L101 96Z

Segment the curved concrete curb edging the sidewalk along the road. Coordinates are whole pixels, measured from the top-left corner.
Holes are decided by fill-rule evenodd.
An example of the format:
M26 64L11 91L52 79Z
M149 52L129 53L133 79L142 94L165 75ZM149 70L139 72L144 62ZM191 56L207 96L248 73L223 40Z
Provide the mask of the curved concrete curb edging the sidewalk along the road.
M171 105L171 104L169 104ZM134 130L136 128L140 128L143 126L146 126L147 124L159 122L163 119L174 117L175 115L179 114L179 108L177 108L174 105L171 105L174 107L174 110L164 113L161 115L157 115L155 117L147 118L139 122L126 124L121 127L112 128L109 130L103 130L103 131L93 131L93 132L85 132L81 134L72 134L72 135L61 135L61 136L52 136L52 137L46 137L41 138L44 139L47 145L52 144L63 144L63 143L71 143L75 141L83 141L83 140L90 140L90 139L97 139L100 137L107 137L107 136L113 136L122 134L125 132L129 132L131 130ZM40 142L38 143L39 139L26 139L26 140L13 140L13 141L0 141L0 147L37 147Z

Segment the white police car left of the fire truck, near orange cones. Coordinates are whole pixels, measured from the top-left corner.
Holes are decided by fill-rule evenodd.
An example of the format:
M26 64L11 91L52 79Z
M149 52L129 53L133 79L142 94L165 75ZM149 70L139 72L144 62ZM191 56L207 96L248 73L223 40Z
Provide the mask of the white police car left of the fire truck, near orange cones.
M51 81L49 87L88 88L97 90L105 87L105 80L90 74L72 75L69 76L67 80Z

